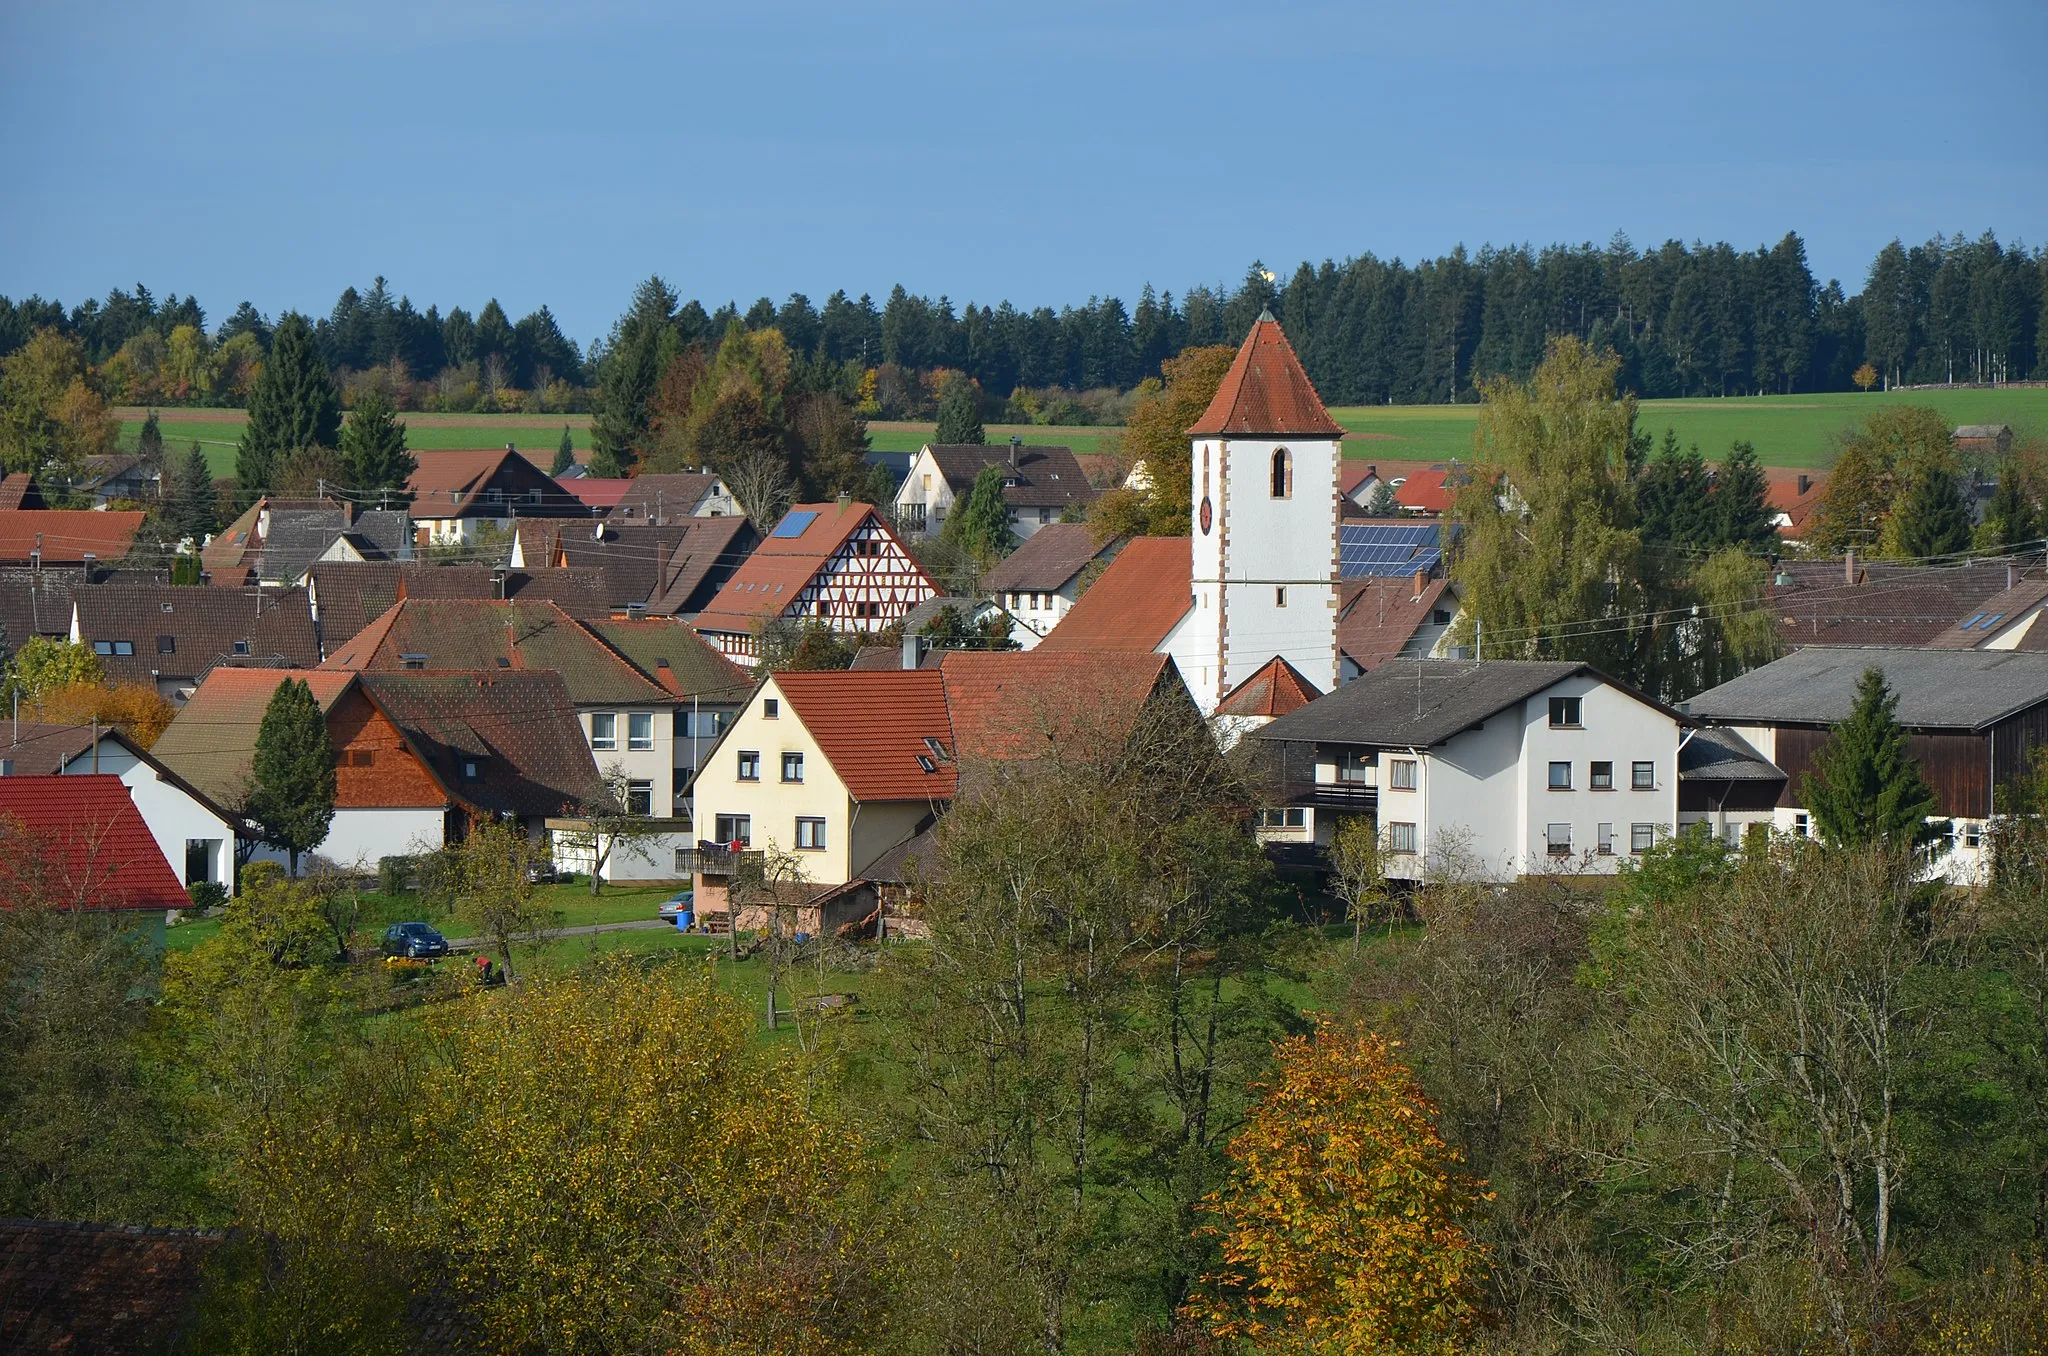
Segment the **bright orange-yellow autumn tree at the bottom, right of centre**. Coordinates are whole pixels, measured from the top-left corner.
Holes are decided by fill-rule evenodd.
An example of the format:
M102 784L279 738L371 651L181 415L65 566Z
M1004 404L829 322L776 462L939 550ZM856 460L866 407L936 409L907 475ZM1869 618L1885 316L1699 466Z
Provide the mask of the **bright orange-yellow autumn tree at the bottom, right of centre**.
M1188 1315L1262 1352L1448 1352L1479 1319L1485 1198L1434 1108L1364 1026L1276 1049L1229 1188L1206 1202L1223 1266Z

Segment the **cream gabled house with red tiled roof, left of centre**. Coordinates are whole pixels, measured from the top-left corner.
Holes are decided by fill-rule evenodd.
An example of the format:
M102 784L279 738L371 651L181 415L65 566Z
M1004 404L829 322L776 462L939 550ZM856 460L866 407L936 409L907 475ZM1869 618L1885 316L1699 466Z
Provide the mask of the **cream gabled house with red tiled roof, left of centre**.
M750 852L793 862L805 885L844 885L928 828L954 787L938 672L772 674L692 782L696 909L729 912Z

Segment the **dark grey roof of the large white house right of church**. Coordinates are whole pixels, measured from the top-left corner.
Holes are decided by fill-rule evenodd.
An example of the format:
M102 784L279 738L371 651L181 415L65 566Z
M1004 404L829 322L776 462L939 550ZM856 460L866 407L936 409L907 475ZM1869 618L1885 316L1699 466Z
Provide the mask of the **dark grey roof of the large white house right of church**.
M1253 737L1427 748L1591 672L1569 660L1389 660Z

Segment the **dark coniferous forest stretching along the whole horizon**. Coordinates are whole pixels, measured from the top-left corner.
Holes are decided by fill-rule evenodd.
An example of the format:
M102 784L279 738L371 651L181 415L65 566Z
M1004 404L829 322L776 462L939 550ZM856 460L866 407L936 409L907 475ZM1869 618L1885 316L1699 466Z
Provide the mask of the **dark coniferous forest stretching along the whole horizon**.
M686 348L717 346L733 322L774 328L793 356L877 369L874 412L889 418L930 418L938 383L911 375L965 371L993 399L1049 393L1028 416L1090 422L1102 410L1085 401L1042 406L1061 391L1126 391L1188 346L1235 344L1262 307L1339 406L1470 401L1489 377L1526 379L1544 342L1567 334L1612 348L1620 385L1642 397L1847 391L1866 363L1866 379L1890 385L2048 379L2048 252L1991 231L1894 240L1855 293L1817 279L1796 234L1747 252L1677 240L1636 250L1616 236L1606 246L1458 246L1417 262L1368 252L1303 262L1292 277L1253 264L1237 287L1176 295L1147 285L1135 305L956 305L901 285L881 301L846 291L743 309L686 299L668 330ZM0 297L0 356L55 328L76 338L109 399L238 406L276 320L242 301L209 330L197 297L143 285L72 307ZM545 305L520 320L496 299L442 311L377 279L346 289L313 334L344 389L377 373L399 408L578 410L614 377L631 324L629 309L612 334L580 346Z

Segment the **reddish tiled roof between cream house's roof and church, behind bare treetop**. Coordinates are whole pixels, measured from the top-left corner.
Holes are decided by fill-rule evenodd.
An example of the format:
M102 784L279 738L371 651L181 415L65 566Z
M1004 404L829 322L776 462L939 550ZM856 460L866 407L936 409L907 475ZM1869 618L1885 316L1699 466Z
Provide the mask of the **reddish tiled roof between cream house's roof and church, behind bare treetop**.
M967 758L1032 758L1051 746L1122 746L1174 662L1161 653L948 653L952 733Z

